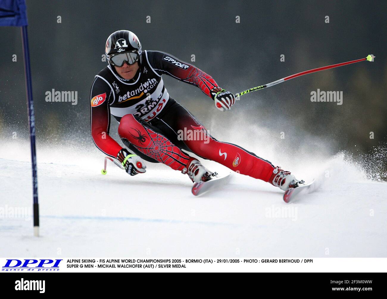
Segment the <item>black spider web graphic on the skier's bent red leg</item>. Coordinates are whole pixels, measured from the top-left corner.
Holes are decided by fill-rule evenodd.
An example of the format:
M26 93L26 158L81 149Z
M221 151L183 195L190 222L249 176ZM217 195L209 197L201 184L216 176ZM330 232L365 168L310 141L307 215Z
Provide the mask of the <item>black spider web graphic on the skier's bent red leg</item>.
M187 165L190 157L185 155L180 148L171 143L171 141L162 134L156 133L147 127L145 127L145 129L150 138L148 146L142 147L138 144L135 145L142 153L165 165L171 166L174 169L180 168L180 166L185 167ZM140 143L142 142L140 141ZM172 163L175 163L175 165L172 165Z

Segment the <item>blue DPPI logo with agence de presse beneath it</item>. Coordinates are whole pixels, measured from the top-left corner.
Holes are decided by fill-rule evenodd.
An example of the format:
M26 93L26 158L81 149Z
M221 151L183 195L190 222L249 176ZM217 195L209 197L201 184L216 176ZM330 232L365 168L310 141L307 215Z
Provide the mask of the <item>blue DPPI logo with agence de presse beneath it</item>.
M23 262L24 261L24 262ZM2 271L58 271L62 260L7 260Z

